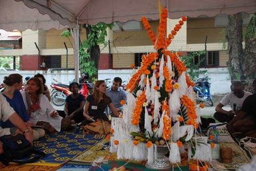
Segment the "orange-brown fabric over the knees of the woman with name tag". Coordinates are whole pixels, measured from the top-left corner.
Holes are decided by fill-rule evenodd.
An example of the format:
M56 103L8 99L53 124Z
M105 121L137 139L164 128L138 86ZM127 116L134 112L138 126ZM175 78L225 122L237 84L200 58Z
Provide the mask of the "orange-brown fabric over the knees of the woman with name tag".
M98 118L96 122L91 122L85 126L82 126L82 132L83 134L107 135L110 132L110 128L111 126L108 121Z

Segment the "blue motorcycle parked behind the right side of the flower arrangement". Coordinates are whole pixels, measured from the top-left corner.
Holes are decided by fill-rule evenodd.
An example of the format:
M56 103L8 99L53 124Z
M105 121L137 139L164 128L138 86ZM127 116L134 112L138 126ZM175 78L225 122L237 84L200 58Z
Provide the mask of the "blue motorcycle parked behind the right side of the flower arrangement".
M210 96L210 83L208 82L208 74L205 73L203 78L199 78L196 81L196 85L193 90L196 92L196 100L200 102L205 102L209 106L213 106L212 97Z

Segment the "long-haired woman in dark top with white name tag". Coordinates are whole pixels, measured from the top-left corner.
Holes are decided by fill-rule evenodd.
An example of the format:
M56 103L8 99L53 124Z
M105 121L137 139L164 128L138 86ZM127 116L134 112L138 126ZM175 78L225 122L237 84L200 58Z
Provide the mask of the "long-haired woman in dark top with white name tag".
M92 95L89 95L84 105L84 117L86 118L83 125L96 121L98 118L109 121L104 113L106 106L112 110L115 117L119 117L119 113L115 109L110 98L105 94L106 84L104 80L98 80L93 87Z

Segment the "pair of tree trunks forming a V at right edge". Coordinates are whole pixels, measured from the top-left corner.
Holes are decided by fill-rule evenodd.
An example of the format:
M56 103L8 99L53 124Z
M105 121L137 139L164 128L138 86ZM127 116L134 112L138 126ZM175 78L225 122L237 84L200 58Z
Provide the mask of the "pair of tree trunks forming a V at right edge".
M229 60L227 62L231 80L241 80L248 90L251 80L256 77L256 16L251 17L245 34L243 49L242 12L229 15L228 42Z

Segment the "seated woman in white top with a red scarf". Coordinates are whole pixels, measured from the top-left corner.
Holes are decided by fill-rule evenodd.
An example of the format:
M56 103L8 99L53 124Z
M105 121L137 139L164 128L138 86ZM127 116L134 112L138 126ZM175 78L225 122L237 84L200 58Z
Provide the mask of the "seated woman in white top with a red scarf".
M27 91L22 92L31 122L42 126L47 132L67 129L71 125L70 119L63 119L59 116L47 97L42 95L43 91L43 83L38 78L32 77L27 82Z

